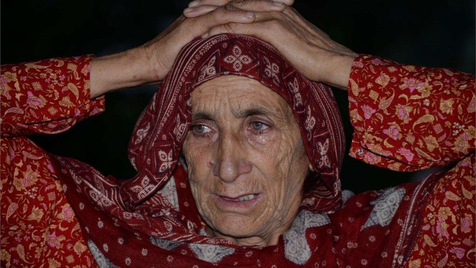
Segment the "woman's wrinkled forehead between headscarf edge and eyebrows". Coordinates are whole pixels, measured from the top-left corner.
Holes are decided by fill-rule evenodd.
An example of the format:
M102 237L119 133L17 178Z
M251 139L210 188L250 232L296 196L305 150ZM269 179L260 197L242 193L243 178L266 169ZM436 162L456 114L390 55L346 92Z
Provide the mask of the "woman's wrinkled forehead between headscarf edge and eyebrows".
M295 122L289 104L258 80L223 75L200 84L191 93L192 121L262 115L276 123Z

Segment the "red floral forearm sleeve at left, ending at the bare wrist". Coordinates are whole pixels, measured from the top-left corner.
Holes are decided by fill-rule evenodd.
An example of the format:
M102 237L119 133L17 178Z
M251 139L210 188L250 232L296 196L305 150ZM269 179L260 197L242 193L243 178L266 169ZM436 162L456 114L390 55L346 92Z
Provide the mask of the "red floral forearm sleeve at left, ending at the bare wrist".
M1 136L65 131L104 110L90 100L91 56L1 66Z

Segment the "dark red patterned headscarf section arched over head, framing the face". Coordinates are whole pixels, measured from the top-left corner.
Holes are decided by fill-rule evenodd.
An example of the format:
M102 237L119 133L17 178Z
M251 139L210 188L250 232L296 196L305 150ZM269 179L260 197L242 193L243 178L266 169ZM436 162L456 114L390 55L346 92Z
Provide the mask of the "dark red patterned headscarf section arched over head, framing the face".
M191 92L223 75L255 79L286 100L316 170L315 187L302 206L315 212L335 210L341 200L345 142L331 89L305 78L268 43L232 34L187 44L140 116L129 144L129 157L139 174L121 189L126 206L134 209L170 178L190 126Z

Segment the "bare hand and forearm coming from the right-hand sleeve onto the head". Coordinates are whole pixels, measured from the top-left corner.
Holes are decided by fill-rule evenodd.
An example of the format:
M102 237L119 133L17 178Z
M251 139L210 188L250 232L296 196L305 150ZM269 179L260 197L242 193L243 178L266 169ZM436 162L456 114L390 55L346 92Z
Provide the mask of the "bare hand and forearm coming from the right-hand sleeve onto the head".
M186 17L201 16L220 7L249 10L249 0L198 0ZM255 22L227 23L211 28L202 37L220 33L252 35L271 43L308 79L347 89L352 63L357 54L333 41L326 33L306 21L294 8L255 12Z

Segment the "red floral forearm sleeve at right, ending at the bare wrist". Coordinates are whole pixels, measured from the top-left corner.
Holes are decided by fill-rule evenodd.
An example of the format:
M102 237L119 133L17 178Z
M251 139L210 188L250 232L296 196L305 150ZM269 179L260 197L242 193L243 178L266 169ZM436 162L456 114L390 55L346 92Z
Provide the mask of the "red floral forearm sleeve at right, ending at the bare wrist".
M354 158L414 171L475 151L472 75L359 55L348 88Z

